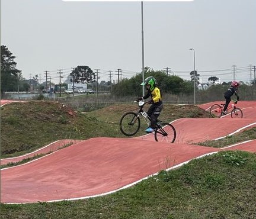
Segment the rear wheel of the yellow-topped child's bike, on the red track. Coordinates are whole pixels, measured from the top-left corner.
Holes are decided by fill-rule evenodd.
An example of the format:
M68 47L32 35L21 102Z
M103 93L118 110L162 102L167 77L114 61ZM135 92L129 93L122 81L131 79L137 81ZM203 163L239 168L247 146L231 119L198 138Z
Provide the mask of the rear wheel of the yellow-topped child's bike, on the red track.
M156 141L174 143L175 139L176 130L172 124L162 123L155 131Z

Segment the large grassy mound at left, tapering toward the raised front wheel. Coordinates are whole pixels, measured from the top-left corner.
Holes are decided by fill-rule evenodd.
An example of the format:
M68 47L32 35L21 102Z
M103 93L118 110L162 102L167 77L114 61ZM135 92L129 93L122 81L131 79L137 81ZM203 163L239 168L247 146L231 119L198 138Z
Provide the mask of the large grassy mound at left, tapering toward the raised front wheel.
M1 108L1 157L18 156L60 139L117 135L114 127L59 102L30 101Z

